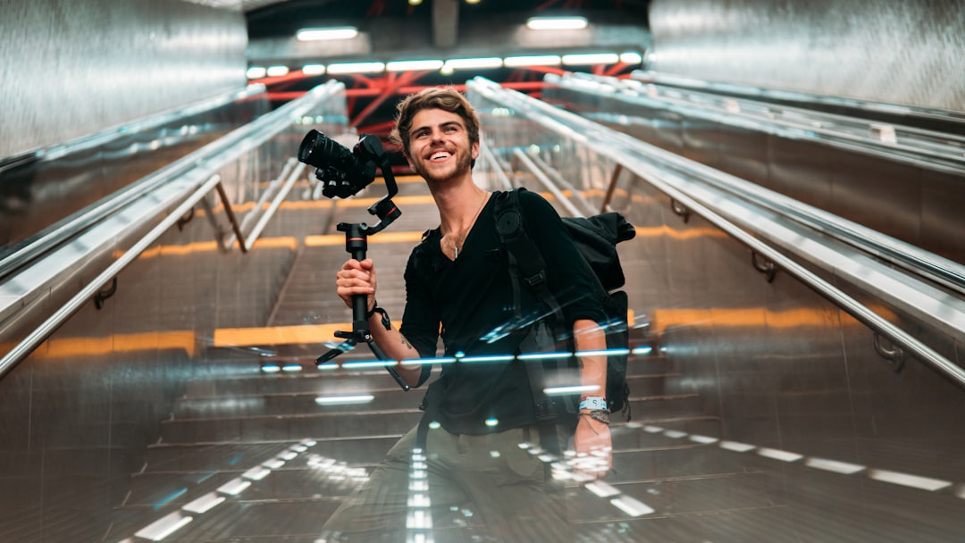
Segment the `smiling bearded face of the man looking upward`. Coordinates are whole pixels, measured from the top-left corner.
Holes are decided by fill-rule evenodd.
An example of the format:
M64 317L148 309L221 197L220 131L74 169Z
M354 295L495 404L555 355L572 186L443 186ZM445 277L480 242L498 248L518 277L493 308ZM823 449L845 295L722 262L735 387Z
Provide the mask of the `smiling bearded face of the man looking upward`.
M469 145L465 123L455 113L424 109L412 118L409 166L427 181L441 182L468 175L479 149L479 142Z

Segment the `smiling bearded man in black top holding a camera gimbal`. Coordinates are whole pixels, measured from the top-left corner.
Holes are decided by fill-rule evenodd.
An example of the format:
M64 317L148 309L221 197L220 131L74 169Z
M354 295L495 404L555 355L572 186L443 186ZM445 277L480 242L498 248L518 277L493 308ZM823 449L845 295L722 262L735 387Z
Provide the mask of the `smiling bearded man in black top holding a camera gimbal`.
M411 386L427 380L429 367L406 361L434 357L440 334L445 356L456 360L443 366L424 402L435 541L565 541L570 531L563 493L550 489L543 462L520 448L533 443L553 449L540 444L527 368L506 357L481 362L485 355L517 353L526 330L514 332L508 326L515 315L514 298L509 258L500 249L493 217L498 193L485 192L472 177L479 130L472 106L451 88L428 89L400 103L393 138L412 170L425 178L440 224L427 232L406 264L400 330L386 328L374 311L371 259L345 262L337 274L337 292L349 307L353 295L368 297L372 338L389 358L400 361L398 370ZM605 349L597 326L603 318L599 300L587 294L596 291L593 272L550 204L530 192L519 200L524 221L538 226L527 231L546 259L547 280L564 306L575 348ZM519 299L525 313L542 311L536 294L523 291ZM602 396L606 357L582 357L580 362L580 383L599 391L589 395ZM594 475L602 475L610 466L609 426L590 417L590 409L580 413L569 427L561 419L561 434L565 440L572 433L577 454L599 458L602 466ZM326 524L331 539L325 541L404 540L412 450L419 433L413 429L404 436L365 487L333 514Z

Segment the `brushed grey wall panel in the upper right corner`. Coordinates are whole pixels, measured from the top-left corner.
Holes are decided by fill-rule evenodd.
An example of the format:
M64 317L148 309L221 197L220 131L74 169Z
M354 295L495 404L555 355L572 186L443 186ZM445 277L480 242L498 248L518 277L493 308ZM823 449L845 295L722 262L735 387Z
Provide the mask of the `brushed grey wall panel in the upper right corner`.
M965 111L961 0L653 0L649 15L657 71Z

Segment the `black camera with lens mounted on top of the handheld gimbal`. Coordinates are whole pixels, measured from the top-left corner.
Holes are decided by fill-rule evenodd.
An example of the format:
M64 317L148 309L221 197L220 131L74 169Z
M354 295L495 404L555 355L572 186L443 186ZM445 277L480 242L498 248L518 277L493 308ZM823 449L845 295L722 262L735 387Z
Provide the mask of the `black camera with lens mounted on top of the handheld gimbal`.
M348 150L321 132L310 130L298 148L298 160L316 167L315 176L322 183L322 195L348 198L375 179L376 157L371 156L371 145L367 145L370 138L372 136L363 134L355 147Z

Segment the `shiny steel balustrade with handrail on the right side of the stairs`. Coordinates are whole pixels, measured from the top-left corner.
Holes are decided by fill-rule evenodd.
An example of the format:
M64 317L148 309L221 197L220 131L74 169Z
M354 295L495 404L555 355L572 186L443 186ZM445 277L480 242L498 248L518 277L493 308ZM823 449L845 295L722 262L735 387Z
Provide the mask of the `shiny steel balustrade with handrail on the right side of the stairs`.
M503 89L483 78L469 81L467 89L470 93L477 93L484 99L498 103L500 107L510 108L514 114L535 122L546 130L593 149L598 155L608 157L642 177L676 203L703 216L717 228L841 307L872 331L890 339L915 358L935 368L960 388L965 388L965 369L800 263L810 262L832 277L859 286L865 292L909 312L919 321L954 341L965 340L965 302L925 284L917 274L897 273L868 255L855 252L848 244L853 243L853 239L838 240L835 235L835 231L850 227L846 221L835 220L830 214L815 212L813 208L809 209L804 205L795 209L797 216L788 217L777 210L758 205L758 199L767 194L752 183L742 182L732 176L714 174L711 169L693 161L654 148L545 102ZM508 152L516 150L509 149ZM488 162L495 163L492 160ZM720 190L714 183L708 182L708 176L718 180L727 179L729 190ZM739 195L740 200L734 199L735 195ZM789 202L789 199L787 200ZM802 220L802 216L807 220ZM877 246L879 241L885 239L886 236L871 236L865 246L872 248L872 255L905 248L898 242ZM877 251L873 250L875 247ZM929 260L937 260L926 257L919 255L909 258L909 262L920 259L924 266ZM920 271L922 275L928 273L928 270ZM954 272L960 274L961 270L959 268Z

